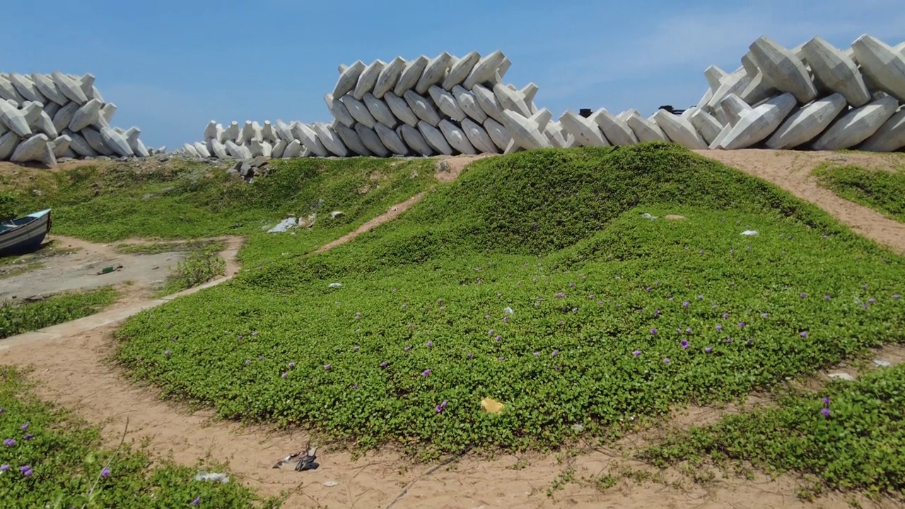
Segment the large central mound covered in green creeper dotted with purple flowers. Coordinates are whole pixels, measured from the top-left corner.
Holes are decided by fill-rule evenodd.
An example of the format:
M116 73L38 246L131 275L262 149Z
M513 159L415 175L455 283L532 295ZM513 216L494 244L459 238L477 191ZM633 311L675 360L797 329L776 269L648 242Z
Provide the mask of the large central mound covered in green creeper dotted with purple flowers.
M665 144L484 159L355 242L260 258L134 317L119 359L361 447L555 446L905 339L900 257Z

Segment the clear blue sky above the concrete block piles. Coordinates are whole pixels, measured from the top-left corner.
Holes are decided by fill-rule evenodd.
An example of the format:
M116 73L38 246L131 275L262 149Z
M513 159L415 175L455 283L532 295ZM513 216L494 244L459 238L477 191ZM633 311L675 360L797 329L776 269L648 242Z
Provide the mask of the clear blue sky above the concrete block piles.
M113 124L149 146L202 139L209 120L330 120L338 65L500 49L506 81L565 110L687 107L703 71L731 72L760 35L905 40L901 0L43 0L5 5L0 72L91 72ZM52 29L47 29L52 25Z

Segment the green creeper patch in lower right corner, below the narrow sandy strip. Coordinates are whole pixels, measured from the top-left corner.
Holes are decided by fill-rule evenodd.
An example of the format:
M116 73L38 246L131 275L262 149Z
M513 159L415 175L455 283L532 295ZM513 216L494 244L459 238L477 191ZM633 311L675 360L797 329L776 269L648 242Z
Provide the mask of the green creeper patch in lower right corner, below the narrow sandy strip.
M817 475L840 490L905 495L905 365L820 393L786 399L780 408L695 427L648 449L665 466L704 457L747 460L770 470Z

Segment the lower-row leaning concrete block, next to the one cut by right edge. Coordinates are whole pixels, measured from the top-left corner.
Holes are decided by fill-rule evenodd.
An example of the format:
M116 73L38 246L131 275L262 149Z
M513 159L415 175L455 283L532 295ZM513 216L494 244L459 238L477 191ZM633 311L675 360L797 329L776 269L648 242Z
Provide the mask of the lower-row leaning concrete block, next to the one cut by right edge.
M861 108L849 110L830 129L814 141L814 150L851 149L880 130L899 108L899 101L888 95Z

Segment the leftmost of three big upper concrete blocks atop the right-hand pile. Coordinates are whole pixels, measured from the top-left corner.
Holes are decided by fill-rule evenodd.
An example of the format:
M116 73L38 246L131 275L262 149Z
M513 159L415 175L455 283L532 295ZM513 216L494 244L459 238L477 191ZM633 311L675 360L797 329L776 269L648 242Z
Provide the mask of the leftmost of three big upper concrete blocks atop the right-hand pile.
M767 84L778 91L791 93L802 103L816 99L817 89L811 75L792 52L767 37L759 37L749 49Z

